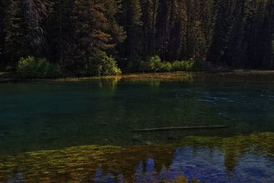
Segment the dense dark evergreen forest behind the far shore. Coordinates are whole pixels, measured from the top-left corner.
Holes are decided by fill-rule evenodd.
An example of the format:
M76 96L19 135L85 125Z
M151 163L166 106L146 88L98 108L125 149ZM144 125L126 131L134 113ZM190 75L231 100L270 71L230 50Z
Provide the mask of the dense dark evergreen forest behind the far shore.
M101 62L136 71L152 56L273 69L274 0L0 0L0 9L3 69L27 56L71 73Z

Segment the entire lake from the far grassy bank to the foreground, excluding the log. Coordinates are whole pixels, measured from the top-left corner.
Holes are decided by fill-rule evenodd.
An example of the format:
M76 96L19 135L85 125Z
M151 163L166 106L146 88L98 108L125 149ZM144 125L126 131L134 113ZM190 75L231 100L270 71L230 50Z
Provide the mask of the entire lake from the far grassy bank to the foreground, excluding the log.
M0 147L0 182L274 182L274 85L1 83Z

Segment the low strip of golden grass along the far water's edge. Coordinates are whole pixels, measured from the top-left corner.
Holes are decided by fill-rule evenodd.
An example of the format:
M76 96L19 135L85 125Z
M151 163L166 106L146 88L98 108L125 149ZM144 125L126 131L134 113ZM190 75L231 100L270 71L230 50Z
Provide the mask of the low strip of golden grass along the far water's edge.
M0 82L209 82L274 83L274 71L234 70L229 72L129 73L104 77L61 77L58 79L21 79L14 73L1 73Z

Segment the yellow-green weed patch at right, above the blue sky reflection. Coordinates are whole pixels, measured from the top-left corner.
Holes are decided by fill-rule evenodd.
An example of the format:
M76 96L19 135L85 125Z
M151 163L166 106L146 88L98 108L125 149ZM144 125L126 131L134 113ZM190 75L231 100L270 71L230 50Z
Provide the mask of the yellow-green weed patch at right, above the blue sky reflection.
M273 133L261 133L240 135L230 138L188 136L182 139L182 145L193 148L206 147L218 148L224 154L224 163L227 171L233 173L238 161L246 154L264 154L266 157L274 157Z

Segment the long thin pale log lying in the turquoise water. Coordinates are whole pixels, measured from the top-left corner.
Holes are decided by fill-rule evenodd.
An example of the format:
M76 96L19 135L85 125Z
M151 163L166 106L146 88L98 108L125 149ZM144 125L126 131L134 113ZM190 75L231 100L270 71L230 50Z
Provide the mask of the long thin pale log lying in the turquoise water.
M151 131L166 131L166 130L207 130L227 128L229 125L210 125L210 126L185 126L185 127L156 127L145 129L134 129L134 132L151 132Z

